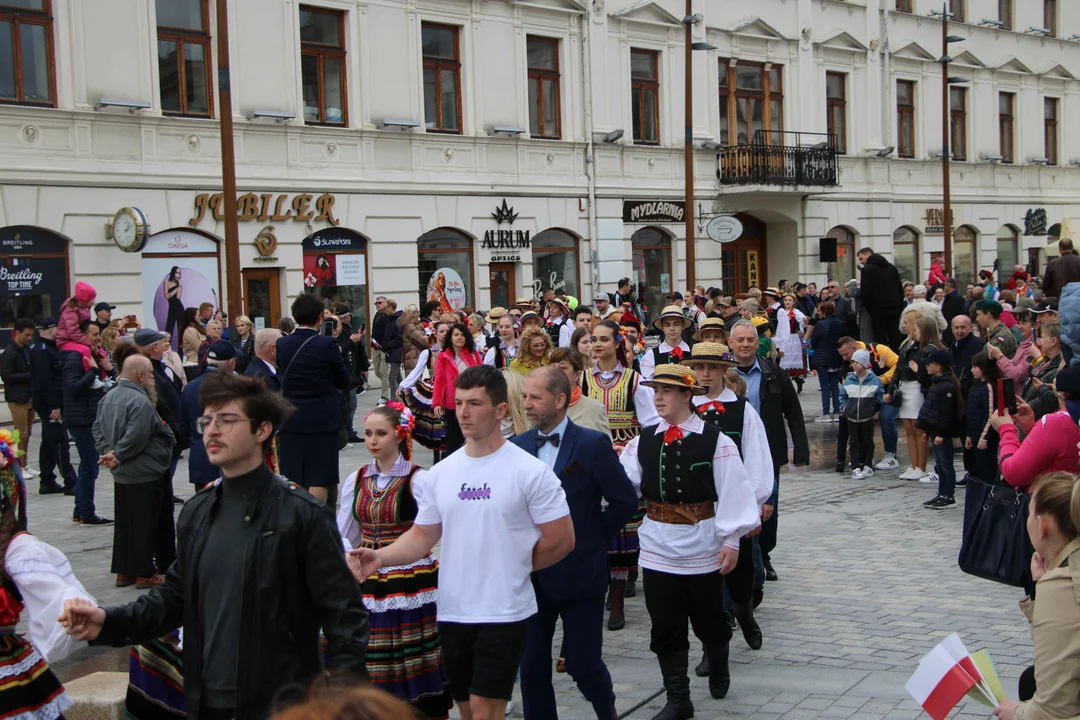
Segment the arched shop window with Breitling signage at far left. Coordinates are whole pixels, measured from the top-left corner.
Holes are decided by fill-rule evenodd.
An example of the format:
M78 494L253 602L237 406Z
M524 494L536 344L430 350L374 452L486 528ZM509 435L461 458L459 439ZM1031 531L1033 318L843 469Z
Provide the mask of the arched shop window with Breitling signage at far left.
M59 317L67 299L68 242L31 226L0 228L0 347L15 321Z

